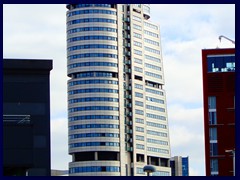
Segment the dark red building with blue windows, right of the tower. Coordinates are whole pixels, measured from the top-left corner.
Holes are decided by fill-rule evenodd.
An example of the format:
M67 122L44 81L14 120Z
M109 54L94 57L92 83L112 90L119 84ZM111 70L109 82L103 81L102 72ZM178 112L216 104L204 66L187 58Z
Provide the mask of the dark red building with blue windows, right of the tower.
M235 49L202 50L202 66L206 175L233 176Z

